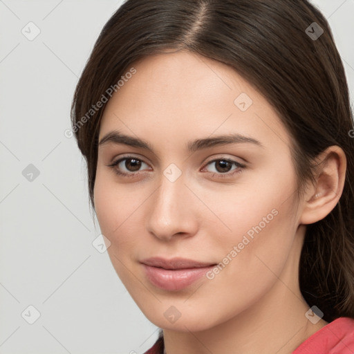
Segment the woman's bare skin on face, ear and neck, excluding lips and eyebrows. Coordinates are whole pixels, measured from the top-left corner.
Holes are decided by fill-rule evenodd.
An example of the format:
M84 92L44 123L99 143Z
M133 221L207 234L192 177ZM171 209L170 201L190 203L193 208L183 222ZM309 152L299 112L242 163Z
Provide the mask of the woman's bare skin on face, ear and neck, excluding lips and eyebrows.
M106 105L99 139L120 131L146 140L153 151L109 142L98 149L95 210L115 271L142 313L164 329L168 354L294 351L327 324L306 318L298 266L306 224L324 218L342 194L344 152L324 151L317 184L297 201L288 131L233 68L189 52L132 66L137 73ZM246 111L234 104L241 93L253 101ZM257 139L263 148L239 143L187 150L192 140L230 133ZM141 167L125 160L115 169L136 175L118 176L109 165L127 155ZM245 168L221 170L225 158ZM171 163L182 173L174 182L164 175ZM147 279L140 261L148 257L221 262L273 209L277 216L214 279L179 291ZM174 323L164 316L171 306L180 313Z

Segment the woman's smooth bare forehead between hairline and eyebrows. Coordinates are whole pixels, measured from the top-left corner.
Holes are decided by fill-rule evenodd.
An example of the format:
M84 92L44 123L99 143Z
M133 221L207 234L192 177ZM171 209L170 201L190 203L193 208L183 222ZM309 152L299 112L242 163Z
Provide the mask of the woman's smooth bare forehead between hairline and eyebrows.
M240 133L265 146L290 146L272 106L230 66L178 52L146 57L129 68L136 73L107 103L100 139L119 130L145 140L158 137L171 145L176 137L182 142L213 133Z

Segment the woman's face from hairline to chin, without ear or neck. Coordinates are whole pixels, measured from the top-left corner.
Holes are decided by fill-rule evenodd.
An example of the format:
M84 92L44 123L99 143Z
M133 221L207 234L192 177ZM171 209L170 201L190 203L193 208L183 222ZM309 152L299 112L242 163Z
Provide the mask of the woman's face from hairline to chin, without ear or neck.
M186 331L296 292L301 202L272 106L229 66L192 53L132 66L104 111L94 189L131 297L157 326ZM167 263L142 263L151 257ZM177 257L210 266L168 263Z

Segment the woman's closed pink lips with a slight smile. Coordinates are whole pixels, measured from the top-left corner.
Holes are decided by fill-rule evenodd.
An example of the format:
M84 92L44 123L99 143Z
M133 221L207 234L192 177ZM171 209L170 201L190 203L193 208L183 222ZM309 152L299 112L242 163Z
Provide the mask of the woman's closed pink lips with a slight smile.
M181 290L194 283L216 265L191 259L163 259L153 257L141 261L147 278L153 285L165 290Z

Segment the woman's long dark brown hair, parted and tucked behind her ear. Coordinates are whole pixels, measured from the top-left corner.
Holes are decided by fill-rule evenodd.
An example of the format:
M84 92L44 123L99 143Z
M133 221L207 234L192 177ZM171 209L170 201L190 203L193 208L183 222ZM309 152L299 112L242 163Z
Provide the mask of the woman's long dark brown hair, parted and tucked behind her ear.
M311 37L321 28L319 38ZM100 33L73 98L73 131L86 158L93 209L104 106L87 113L133 62L167 49L232 66L274 106L292 138L298 197L314 180L315 157L332 145L344 150L344 191L326 218L307 226L299 282L326 321L354 318L353 115L328 22L306 0L125 1Z

